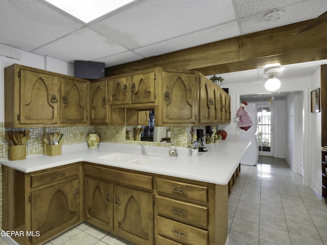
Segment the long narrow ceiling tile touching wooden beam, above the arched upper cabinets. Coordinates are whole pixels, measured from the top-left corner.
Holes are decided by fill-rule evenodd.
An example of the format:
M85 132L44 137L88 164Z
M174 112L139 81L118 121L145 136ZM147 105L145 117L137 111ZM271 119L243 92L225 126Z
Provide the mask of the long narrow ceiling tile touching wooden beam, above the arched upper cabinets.
M162 55L170 52L183 50L209 42L214 42L240 35L237 21L231 21L220 26L208 28L195 33L179 36L166 41L151 44L137 48L134 51L144 57Z

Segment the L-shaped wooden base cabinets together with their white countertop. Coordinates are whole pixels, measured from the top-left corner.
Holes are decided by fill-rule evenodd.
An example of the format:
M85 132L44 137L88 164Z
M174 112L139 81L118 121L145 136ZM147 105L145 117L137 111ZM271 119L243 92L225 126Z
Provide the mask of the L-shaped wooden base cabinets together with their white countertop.
M137 245L228 244L228 195L249 145L229 136L198 157L170 157L167 147L85 143L2 161L3 229L29 231L6 240L38 245L86 220Z

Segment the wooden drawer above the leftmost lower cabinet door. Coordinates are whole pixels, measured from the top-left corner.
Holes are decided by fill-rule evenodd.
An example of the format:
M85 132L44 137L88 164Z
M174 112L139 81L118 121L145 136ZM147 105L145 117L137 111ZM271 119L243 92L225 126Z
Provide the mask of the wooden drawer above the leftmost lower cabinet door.
M56 170L46 171L40 174L31 175L31 187L36 187L44 184L55 183L62 179L78 178L79 165L62 167Z

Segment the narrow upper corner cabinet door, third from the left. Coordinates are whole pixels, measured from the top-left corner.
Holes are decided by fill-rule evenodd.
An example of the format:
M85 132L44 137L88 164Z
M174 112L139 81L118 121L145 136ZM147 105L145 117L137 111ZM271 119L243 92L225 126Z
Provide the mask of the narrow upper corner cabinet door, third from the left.
M91 124L108 124L107 80L94 82L91 87Z

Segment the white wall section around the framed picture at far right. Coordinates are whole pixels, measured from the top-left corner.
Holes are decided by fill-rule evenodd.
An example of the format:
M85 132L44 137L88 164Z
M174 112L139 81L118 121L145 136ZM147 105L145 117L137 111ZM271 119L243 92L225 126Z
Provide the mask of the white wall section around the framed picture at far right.
M319 67L311 76L311 91L321 87L320 72ZM310 113L310 118L312 125L310 134L313 139L311 143L311 188L321 195L321 113Z

